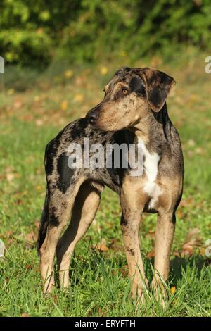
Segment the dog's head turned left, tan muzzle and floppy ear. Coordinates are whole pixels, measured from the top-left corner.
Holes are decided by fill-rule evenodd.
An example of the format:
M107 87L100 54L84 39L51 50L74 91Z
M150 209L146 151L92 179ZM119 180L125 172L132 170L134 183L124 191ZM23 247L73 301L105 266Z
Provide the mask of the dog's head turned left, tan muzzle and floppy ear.
M104 131L132 127L149 111L162 109L174 84L172 77L153 68L120 68L106 85L103 101L87 118Z

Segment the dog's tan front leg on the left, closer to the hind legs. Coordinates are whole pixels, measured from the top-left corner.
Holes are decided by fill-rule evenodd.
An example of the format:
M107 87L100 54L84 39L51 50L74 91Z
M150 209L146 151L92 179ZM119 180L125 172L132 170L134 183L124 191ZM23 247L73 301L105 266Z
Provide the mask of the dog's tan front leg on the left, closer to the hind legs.
M148 286L148 281L143 270L140 251L139 226L141 221L141 208L136 200L136 192L124 189L120 193L122 206L121 228L129 266L129 276L132 280L132 298L136 295L143 300L143 287ZM142 208L143 209L143 208Z

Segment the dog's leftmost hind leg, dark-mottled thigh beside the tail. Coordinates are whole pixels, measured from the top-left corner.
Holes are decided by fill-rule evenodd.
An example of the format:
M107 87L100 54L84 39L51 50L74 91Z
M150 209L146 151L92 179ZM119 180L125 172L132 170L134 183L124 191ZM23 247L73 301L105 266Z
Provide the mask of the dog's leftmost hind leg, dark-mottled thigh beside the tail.
M44 293L50 292L54 285L53 260L56 246L64 227L68 224L75 196L82 181L83 178L75 181L65 192L58 188L56 182L48 182L37 244Z

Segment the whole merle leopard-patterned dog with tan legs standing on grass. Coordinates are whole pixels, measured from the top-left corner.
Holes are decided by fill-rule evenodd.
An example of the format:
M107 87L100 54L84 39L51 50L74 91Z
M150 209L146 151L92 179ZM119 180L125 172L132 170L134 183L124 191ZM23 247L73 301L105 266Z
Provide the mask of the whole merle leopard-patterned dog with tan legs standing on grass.
M169 274L175 212L184 179L181 142L166 104L174 84L172 77L154 68L120 68L106 85L103 101L86 118L68 124L47 144L46 199L37 244L45 293L55 284L55 254L60 287L69 287L72 253L96 216L104 185L120 196L120 224L133 297L143 297L143 288L148 286L140 252L141 215L158 214L152 287L155 293L164 288L161 284ZM130 168L121 166L71 168L68 148L77 143L83 149L84 138L89 138L90 146L96 143L141 146L143 172L132 176Z

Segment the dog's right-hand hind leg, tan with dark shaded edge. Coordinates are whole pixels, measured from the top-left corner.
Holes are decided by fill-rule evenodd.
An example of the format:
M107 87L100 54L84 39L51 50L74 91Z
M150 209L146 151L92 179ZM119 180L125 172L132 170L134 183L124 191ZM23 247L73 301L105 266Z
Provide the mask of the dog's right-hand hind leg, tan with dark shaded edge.
M69 268L72 253L96 216L101 200L101 188L94 188L89 182L84 182L79 189L72 209L70 225L60 238L56 249L60 288L70 285Z

